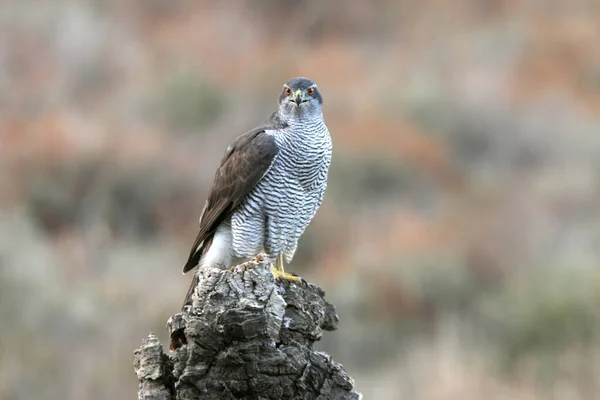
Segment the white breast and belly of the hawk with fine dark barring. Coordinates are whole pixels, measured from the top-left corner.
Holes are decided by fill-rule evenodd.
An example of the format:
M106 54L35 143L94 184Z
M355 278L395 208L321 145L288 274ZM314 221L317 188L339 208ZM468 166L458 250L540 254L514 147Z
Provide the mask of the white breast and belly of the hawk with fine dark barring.
M266 251L291 262L298 239L323 201L331 162L331 137L323 120L272 131L279 147L271 168L233 214L234 258Z

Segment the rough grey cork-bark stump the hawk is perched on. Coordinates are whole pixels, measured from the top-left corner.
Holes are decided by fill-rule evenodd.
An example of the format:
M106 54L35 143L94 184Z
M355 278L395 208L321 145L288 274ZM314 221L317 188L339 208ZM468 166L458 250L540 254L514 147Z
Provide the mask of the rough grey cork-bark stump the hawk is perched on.
M171 354L150 335L135 351L139 399L360 399L313 344L337 326L322 289L275 282L265 257L203 268L193 305L169 318Z

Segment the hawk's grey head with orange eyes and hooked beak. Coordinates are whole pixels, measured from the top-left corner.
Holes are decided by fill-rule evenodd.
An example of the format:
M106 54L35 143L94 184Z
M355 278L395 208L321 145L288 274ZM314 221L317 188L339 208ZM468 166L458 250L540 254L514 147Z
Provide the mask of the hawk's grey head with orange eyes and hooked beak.
M321 115L323 98L317 85L308 78L294 78L283 85L279 113L286 119Z

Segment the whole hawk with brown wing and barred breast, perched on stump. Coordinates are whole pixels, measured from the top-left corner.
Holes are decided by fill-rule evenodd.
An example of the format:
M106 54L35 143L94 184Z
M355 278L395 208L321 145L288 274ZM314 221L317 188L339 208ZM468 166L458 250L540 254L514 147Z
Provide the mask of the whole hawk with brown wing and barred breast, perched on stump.
M196 266L230 268L266 253L276 279L304 284L284 271L298 239L323 202L331 137L317 85L294 78L261 126L239 136L225 152L200 216L200 231L183 273ZM184 305L198 283L197 274Z

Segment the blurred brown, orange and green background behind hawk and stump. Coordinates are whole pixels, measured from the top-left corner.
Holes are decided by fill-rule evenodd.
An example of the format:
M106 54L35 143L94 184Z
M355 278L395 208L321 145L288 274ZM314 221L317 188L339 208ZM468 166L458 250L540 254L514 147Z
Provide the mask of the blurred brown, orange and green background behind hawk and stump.
M136 398L225 148L298 75L334 159L289 269L365 399L597 398L599 40L593 0L2 1L0 399Z

